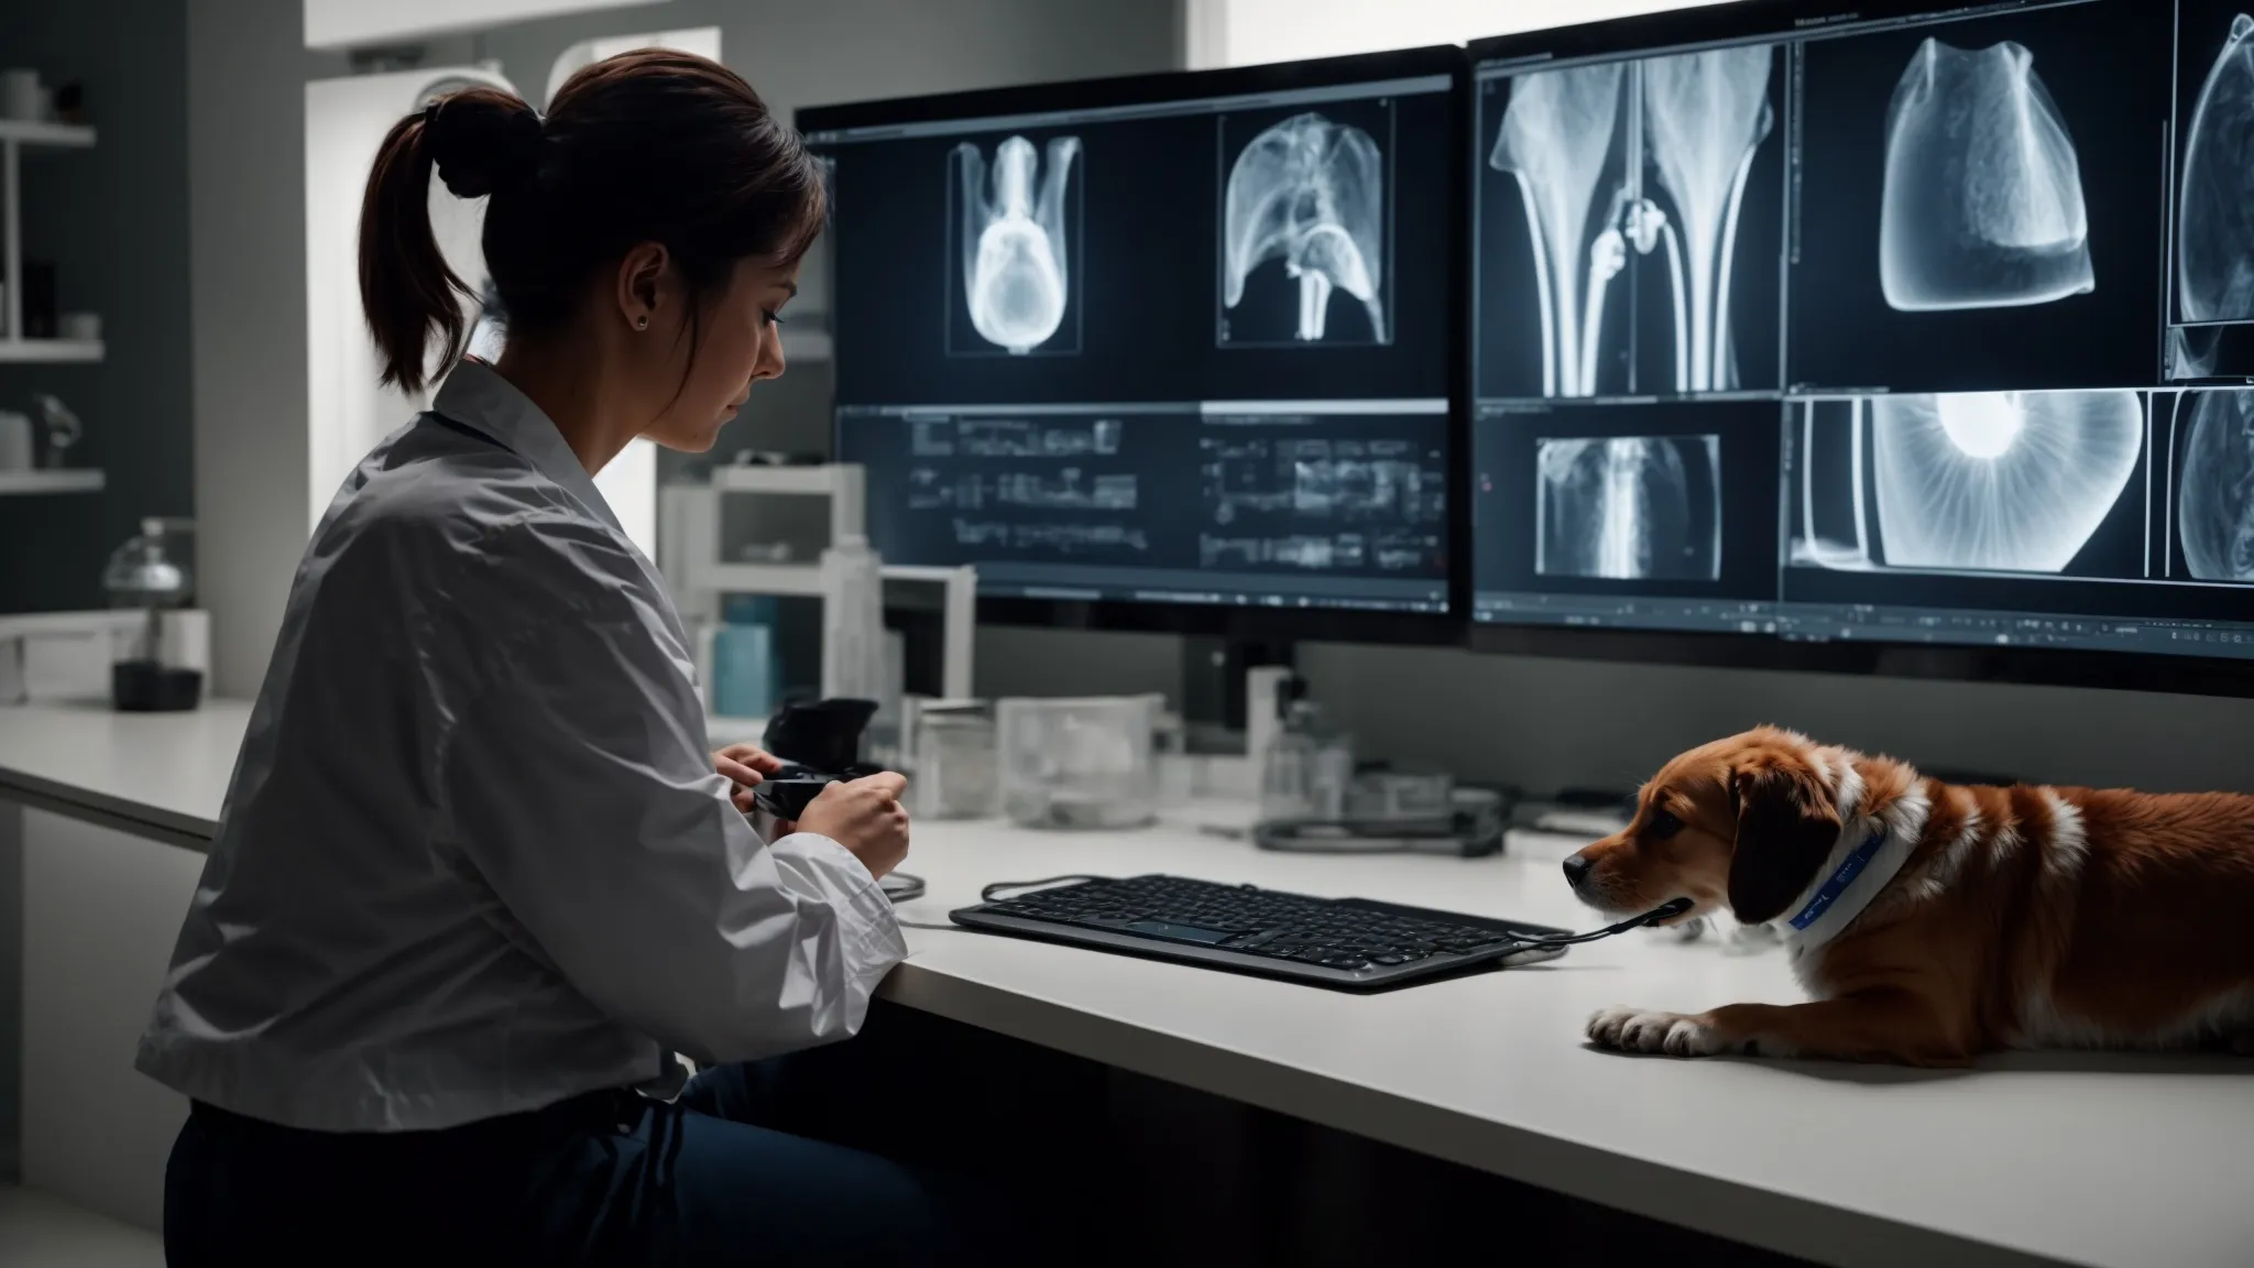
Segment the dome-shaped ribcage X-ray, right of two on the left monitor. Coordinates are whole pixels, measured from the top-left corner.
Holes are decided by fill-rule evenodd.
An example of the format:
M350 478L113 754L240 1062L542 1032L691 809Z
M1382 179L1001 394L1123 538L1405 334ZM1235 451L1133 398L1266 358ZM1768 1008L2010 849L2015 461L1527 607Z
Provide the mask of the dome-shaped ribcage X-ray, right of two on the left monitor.
M1386 343L1386 156L1361 126L1305 111L1253 135L1222 187L1222 343ZM1289 329L1242 311L1269 262L1298 289ZM1334 300L1359 305L1366 327L1337 329Z

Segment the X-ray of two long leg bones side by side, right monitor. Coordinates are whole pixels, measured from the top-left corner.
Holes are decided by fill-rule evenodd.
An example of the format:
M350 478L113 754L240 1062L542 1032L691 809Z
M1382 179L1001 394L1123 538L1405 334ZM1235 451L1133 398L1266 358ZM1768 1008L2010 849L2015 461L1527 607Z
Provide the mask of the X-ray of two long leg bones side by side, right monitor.
M1488 165L1526 210L1544 397L1605 390L1600 368L1632 338L1614 282L1641 259L1672 296L1672 390L1740 386L1731 275L1747 174L1776 124L1772 63L1769 47L1731 47L1510 81Z

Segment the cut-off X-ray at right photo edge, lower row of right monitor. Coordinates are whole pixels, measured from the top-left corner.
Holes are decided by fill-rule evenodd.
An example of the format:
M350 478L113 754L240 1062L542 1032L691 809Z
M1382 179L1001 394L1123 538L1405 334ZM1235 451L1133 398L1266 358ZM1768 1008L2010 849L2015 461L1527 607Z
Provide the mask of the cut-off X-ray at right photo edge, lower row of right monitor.
M2254 390L2182 393L2175 438L2171 575L2254 584Z

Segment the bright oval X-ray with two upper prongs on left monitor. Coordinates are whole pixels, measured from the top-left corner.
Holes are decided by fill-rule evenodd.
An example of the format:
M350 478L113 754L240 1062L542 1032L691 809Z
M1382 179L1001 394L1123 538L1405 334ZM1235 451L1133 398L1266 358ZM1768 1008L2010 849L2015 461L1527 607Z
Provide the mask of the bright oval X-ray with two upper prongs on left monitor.
M994 147L994 162L978 144L953 151L960 201L958 250L962 302L987 352L1023 356L1064 327L1073 266L1066 237L1066 192L1080 138L1050 138L1046 153L1012 135ZM1077 352L1077 347L1062 347Z

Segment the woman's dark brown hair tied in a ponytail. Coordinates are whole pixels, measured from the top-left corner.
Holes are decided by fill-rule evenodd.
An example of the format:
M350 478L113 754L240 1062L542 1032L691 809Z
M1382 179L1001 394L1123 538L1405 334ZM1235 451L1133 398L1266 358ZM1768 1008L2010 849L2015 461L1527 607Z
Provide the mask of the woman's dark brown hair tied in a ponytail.
M658 241L701 300L737 259L791 264L823 228L820 167L733 70L638 50L573 74L541 120L498 88L399 120L361 203L361 307L383 381L419 390L469 343L469 287L431 232L431 174L485 210L485 266L512 336L570 323L588 278ZM440 361L431 370L431 338Z

